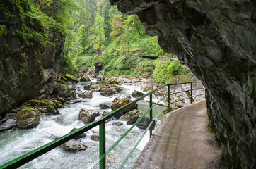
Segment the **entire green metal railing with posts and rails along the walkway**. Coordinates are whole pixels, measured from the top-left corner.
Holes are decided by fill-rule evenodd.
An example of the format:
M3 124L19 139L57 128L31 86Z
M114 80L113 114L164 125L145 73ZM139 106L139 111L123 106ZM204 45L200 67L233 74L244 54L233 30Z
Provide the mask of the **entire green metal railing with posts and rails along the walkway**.
M0 168L18 168L21 165L24 165L25 163L28 163L30 161L32 161L33 159L37 158L38 156L41 156L42 154L47 153L48 151L56 148L57 146L60 146L61 144L64 144L65 142L68 142L70 139L73 139L74 137L77 137L78 135L82 134L83 132L87 132L88 130L91 130L93 127L98 126L100 127L100 158L98 158L98 160L95 161L95 163L93 163L90 168L93 168L95 165L97 165L98 163L100 163L100 169L101 168L105 168L106 163L105 163L105 157L107 156L107 154L110 153L110 151L112 149L115 148L115 146L117 146L117 144L139 123L140 120L142 120L148 113L149 113L149 118L150 118L150 124L149 126L146 128L146 130L143 132L142 136L140 137L139 141L135 144L134 148L132 149L132 151L127 155L127 157L124 159L123 163L120 165L120 168L122 168L124 166L124 164L127 162L127 160L129 159L130 156L132 156L132 153L134 152L134 150L136 149L136 146L139 145L139 142L141 142L141 139L144 137L144 135L146 134L147 130L150 130L150 137L152 135L152 124L154 122L154 120L156 120L156 118L158 118L158 115L160 115L163 110L158 113L158 115L156 115L155 118L153 118L153 107L156 106L160 101L163 101L163 99L165 99L166 97L168 97L168 111L170 111L170 104L174 104L175 102L178 101L174 101L170 103L170 95L172 94L179 94L182 92L190 92L191 96L187 97L186 99L190 99L190 103L192 103L193 99L192 97L192 91L193 90L197 90L197 89L203 89L203 88L197 88L197 89L193 89L193 83L200 83L200 82L185 82L185 83L177 83L177 84L165 84L162 87L159 87L158 89L155 89L147 94L145 94L144 96L139 97L138 99L131 101L129 104L126 104L120 108L117 108L117 110L112 111L112 113L109 113L107 115L105 115L103 118L100 118L99 120L94 121L93 123L90 123L88 125L85 125L81 128L79 128L78 130L75 130L73 132L70 132L69 134L66 134L62 137L59 137L58 139L55 139L54 141L45 144L43 146L40 146L39 148L28 152L27 154L24 154L23 156L20 156L16 159L14 159L13 161L9 161L8 163L5 163L4 165L1 165ZM190 84L190 90L185 90L182 92L175 92L175 93L170 93L170 86L174 86L174 85L178 85L178 84ZM162 89L163 87L168 87L168 94L166 94L165 96L163 96L163 98L161 100L159 100L156 104L152 104L152 94L153 92L158 91L159 89ZM203 94L199 94L197 96L200 96ZM112 118L113 116L117 115L118 113L120 113L124 108L130 107L130 106L134 106L134 104L136 104L138 101L141 101L142 99L144 99L146 96L149 96L149 110L146 111L146 113L144 113L144 115L141 116L141 118L139 118L139 120L136 121L136 123L134 125L132 125L132 127L129 128L129 130L127 130L127 132L125 132L122 137L120 137L120 139L117 140L117 142L115 142L115 144L113 144L110 149L108 149L106 151L105 149L105 123L106 120ZM179 101L183 101L185 99L181 99ZM166 107L165 106L165 107Z

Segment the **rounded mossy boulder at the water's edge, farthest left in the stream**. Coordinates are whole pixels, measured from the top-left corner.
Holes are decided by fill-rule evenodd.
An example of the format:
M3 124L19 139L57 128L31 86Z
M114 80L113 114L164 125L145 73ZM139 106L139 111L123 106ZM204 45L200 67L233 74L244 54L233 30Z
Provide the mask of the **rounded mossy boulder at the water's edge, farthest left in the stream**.
M26 107L16 114L17 126L22 129L36 127L39 125L39 120L40 118L35 108Z

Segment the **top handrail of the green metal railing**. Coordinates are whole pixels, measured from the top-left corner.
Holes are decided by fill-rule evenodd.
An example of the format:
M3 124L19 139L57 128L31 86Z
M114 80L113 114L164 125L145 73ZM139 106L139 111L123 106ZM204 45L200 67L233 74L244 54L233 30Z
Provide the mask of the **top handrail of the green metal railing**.
M157 89L154 89L151 92L148 92L148 93L144 94L143 96L139 97L138 99L135 99L134 101L131 101L128 104L126 104L120 108L117 108L115 111L112 111L112 113L109 113L109 114L105 115L104 117L102 117L98 120L95 120L92 123L89 123L88 125L85 125L77 130L74 130L73 132L69 132L68 134L65 134L62 137L54 139L52 142L49 142L43 146L40 146L37 149L34 149L33 151L30 151L26 154L23 154L22 156L19 156L18 158L13 159L12 161L8 161L8 163L1 165L0 168L18 168L21 165L24 165L25 163L32 161L33 159L37 158L38 156L41 156L42 154L45 154L48 151L56 148L57 146L60 146L61 144L68 142L70 139L77 137L78 135L82 134L83 132L87 132L88 130L91 130L93 127L96 127L97 125L102 125L102 124L105 125L106 120L117 115L124 108L127 108L129 106L134 106L134 104L136 104L138 101L141 101L146 96L149 96L149 95L153 94L153 92L156 92L157 90L162 89L163 87L166 87L166 86L168 86L168 108L169 108L170 107L170 86L178 85L178 84L191 84L191 92L192 92L192 90L193 90L192 83L198 83L198 82L182 82L182 83L176 83L176 84L165 84L161 87L158 87ZM186 90L186 91L190 91L190 90ZM182 92L185 92L185 91L182 91ZM187 99L190 99L190 98L192 98L192 94ZM105 154L105 152L103 152L103 154Z

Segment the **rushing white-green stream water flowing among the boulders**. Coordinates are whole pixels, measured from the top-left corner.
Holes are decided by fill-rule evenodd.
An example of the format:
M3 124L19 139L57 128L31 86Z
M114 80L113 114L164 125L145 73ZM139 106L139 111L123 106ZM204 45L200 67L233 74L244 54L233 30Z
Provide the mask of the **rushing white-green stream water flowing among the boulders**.
M78 120L78 113L81 108L93 109L95 111L103 110L98 106L99 104L107 104L110 106L115 97L131 96L134 89L140 91L139 84L121 84L123 91L114 96L105 97L101 96L100 92L93 92L92 99L82 99L84 102L66 105L64 108L59 108L60 115L46 116L40 118L40 125L30 130L13 130L11 132L0 133L0 165L17 158L28 151L32 151L38 146L47 144L53 140L54 136L60 137L69 133L74 127L82 127L84 124ZM76 84L76 92L84 92L81 83ZM81 99L81 98L79 98ZM133 98L134 99L134 98ZM149 109L149 103L146 101L139 101L139 110L143 113ZM157 113L162 107L156 106L153 108L153 113ZM104 111L111 111L104 110ZM101 117L101 116L100 116ZM97 117L96 119L100 118ZM163 117L163 116L162 116ZM106 149L110 148L117 139L119 139L124 132L126 132L132 125L126 125L126 122L121 121L123 125L116 126L113 123L120 120L112 120L106 123ZM79 141L88 146L86 151L70 152L63 150L60 146L47 154L36 158L30 163L23 165L21 168L89 168L99 156L99 142L91 140L91 135L98 134L98 127L86 132L87 136ZM118 168L129 151L133 148L134 144L139 140L144 130L134 127L132 132L127 134L127 137L118 144L115 149L110 151L107 155L107 168ZM131 168L134 161L139 156L140 152L149 140L149 133L142 139L139 146L134 151L132 157L127 161L124 168ZM98 168L98 164L94 168Z

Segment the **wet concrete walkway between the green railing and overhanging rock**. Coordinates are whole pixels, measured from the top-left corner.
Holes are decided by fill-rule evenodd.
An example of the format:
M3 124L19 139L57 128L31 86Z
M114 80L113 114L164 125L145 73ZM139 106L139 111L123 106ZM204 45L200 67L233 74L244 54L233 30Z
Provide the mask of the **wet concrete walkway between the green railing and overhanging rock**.
M207 123L205 101L166 114L134 168L219 168L221 150Z

